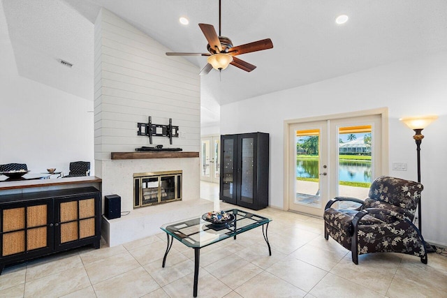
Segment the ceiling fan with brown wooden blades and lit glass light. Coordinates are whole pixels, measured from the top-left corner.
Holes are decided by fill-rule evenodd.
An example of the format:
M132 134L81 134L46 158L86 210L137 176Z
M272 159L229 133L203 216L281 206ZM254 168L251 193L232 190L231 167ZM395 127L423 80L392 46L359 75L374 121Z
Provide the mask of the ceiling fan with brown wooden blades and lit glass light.
M202 29L203 35L208 41L207 50L209 53L185 53L185 52L166 52L167 56L207 56L207 65L200 70L199 75L206 75L210 73L212 68L219 71L227 68L228 64L236 66L242 70L250 72L256 66L249 64L235 56L240 54L247 54L250 52L268 50L273 47L272 40L266 38L263 40L254 41L253 43L246 43L244 45L237 45L233 47L230 38L221 36L221 0L219 0L219 36L217 36L214 26L210 24L198 24Z

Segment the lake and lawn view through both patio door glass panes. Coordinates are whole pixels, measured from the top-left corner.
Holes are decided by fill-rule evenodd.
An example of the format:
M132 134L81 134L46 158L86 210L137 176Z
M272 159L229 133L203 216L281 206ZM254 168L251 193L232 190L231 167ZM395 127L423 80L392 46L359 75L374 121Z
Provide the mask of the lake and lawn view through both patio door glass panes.
M295 202L317 207L321 204L318 189L321 174L319 136L312 131L297 131L296 135ZM372 181L371 126L339 128L338 139L338 195L367 198Z

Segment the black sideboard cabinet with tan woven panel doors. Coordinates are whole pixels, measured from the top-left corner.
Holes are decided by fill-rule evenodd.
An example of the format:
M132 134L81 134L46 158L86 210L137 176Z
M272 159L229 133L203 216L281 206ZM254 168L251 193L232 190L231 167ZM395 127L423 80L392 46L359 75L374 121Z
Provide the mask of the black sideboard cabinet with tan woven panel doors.
M101 192L94 187L0 196L0 274L5 265L101 239Z

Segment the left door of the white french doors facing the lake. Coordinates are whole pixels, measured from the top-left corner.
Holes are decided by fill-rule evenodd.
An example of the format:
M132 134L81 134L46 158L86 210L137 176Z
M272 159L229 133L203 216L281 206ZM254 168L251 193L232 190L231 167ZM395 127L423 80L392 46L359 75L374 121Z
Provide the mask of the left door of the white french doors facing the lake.
M289 137L294 161L289 209L321 216L328 200L328 122L294 124Z

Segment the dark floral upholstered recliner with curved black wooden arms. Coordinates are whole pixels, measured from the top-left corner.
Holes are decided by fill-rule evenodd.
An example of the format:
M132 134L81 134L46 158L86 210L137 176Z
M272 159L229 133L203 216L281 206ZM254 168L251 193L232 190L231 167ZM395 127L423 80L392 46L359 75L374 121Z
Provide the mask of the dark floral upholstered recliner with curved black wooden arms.
M425 241L412 223L423 185L404 179L381 176L369 188L369 198L337 197L328 202L324 211L324 236L332 237L352 253L407 253L420 257L427 264ZM357 209L334 209L339 201L358 202Z

